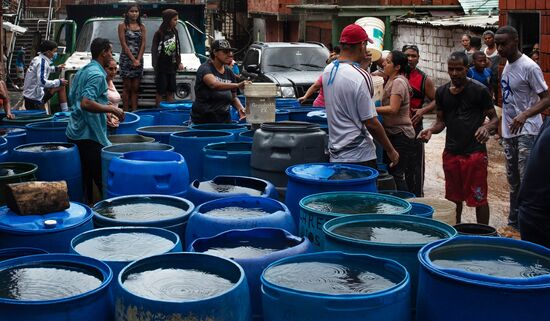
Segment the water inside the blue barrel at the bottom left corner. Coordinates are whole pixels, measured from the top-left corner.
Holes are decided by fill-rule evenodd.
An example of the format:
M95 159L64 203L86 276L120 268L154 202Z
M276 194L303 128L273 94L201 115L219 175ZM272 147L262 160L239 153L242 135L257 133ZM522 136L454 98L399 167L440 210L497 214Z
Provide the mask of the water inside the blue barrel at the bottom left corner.
M92 291L102 282L101 275L76 265L17 266L0 271L0 298L57 300Z

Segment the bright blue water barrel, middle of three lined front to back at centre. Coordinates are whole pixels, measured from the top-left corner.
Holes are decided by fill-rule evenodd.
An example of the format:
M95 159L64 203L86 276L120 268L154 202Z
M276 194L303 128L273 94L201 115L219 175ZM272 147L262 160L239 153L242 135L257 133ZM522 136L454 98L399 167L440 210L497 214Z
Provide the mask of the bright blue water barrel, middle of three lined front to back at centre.
M212 211L222 212L235 209L250 211L261 210L263 215L212 215ZM222 212L223 213L223 212ZM189 246L194 240L211 237L222 232L256 227L281 228L292 234L296 226L288 208L281 202L258 196L227 197L198 206L189 217L185 233L185 244Z

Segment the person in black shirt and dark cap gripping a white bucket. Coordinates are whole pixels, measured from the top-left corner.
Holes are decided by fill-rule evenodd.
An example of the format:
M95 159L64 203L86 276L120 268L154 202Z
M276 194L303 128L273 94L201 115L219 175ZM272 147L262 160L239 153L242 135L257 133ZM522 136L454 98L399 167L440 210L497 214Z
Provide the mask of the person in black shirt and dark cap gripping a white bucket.
M244 108L237 98L237 89L243 89L250 81L237 82L229 65L233 61L233 48L229 41L216 40L212 44L212 59L197 70L195 102L191 109L193 124L228 123L229 108L233 105L241 118Z

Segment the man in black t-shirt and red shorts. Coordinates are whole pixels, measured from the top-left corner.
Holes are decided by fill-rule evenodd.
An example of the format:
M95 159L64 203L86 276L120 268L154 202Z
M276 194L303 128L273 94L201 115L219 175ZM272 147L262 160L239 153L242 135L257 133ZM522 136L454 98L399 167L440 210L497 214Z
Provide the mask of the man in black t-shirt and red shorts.
M477 222L489 224L487 203L487 149L485 142L496 132L498 118L487 87L467 78L468 56L455 52L447 61L451 81L435 94L437 120L418 134L427 142L447 128L443 171L445 198L456 203L460 223L462 202L476 208ZM483 124L485 117L490 121Z

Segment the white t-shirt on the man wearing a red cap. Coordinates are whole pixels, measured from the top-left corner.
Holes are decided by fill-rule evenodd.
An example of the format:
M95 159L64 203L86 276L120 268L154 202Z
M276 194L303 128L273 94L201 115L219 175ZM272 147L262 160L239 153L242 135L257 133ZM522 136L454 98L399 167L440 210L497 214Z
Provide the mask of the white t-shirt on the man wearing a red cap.
M338 69L333 71L333 82L329 84L331 71L338 64ZM377 116L369 73L346 62L331 63L323 72L323 92L330 161L350 163L376 159L372 136L363 125L365 120Z

